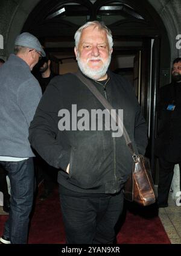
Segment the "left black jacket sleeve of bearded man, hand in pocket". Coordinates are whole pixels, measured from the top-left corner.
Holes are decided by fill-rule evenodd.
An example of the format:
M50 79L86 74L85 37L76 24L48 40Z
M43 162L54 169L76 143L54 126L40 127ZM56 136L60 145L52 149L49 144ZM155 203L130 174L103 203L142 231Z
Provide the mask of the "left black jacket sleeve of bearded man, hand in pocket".
M69 164L71 147L63 149L57 141L60 92L51 82L48 86L29 129L31 146L49 165L66 170Z

